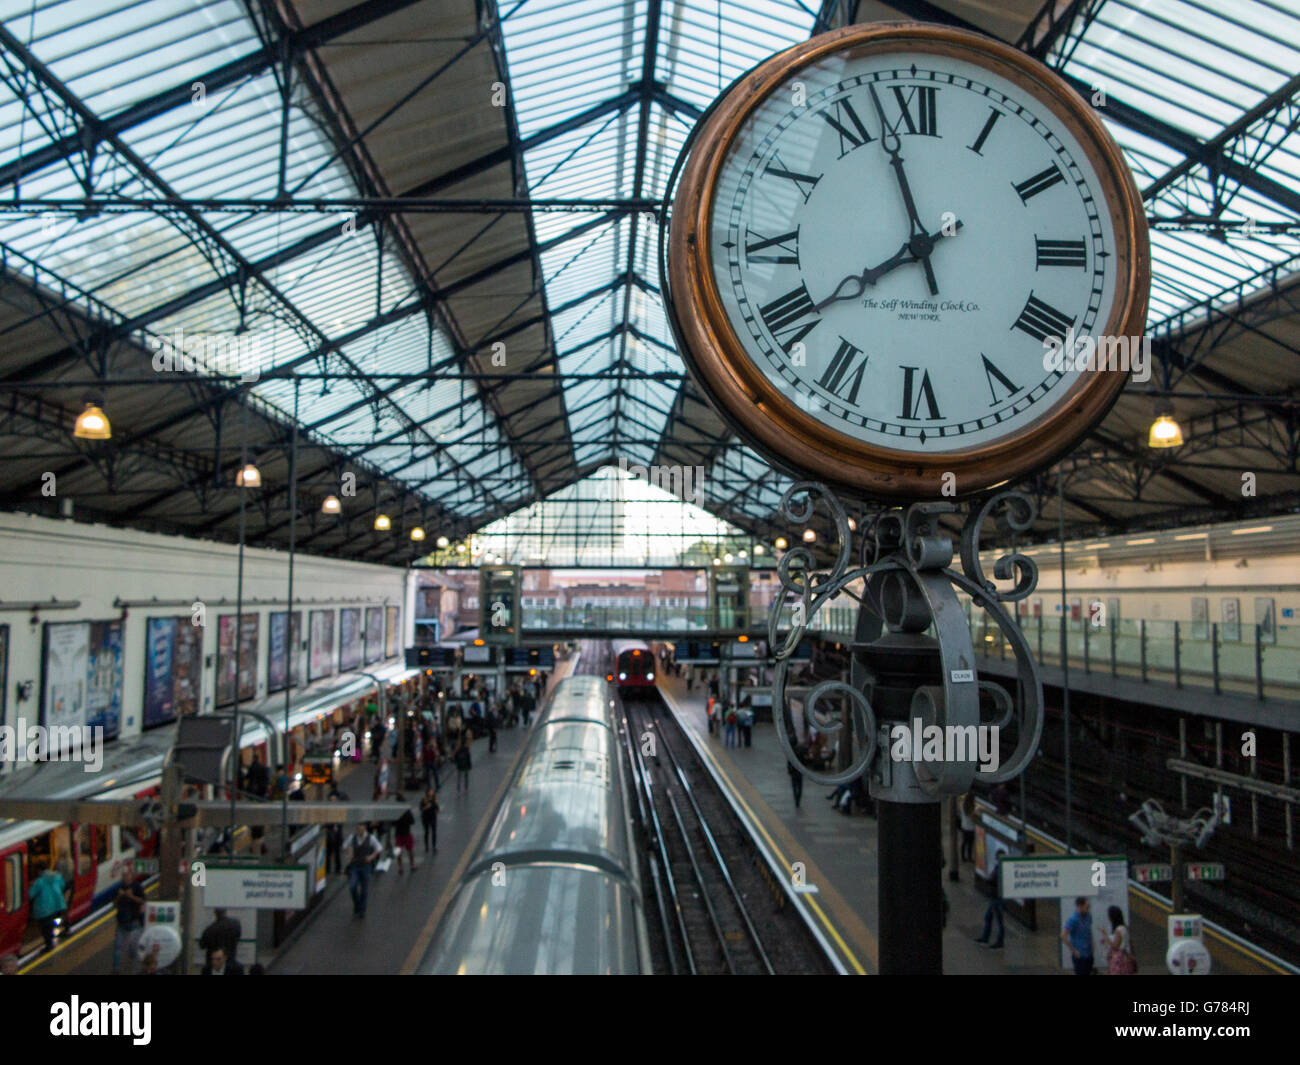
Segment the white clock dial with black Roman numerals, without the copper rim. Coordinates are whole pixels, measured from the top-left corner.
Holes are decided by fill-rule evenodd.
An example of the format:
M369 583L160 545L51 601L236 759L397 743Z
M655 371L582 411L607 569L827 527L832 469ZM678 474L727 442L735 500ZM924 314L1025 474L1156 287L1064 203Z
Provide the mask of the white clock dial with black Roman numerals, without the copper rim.
M933 52L835 56L744 122L710 222L714 281L749 359L866 443L994 443L1079 373L1117 291L1104 186L1022 86Z

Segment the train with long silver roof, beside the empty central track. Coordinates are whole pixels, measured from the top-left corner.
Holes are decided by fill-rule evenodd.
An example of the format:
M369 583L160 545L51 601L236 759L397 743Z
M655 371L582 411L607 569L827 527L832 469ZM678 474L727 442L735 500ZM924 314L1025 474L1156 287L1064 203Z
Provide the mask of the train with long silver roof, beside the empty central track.
M618 719L602 677L555 687L416 971L651 971Z

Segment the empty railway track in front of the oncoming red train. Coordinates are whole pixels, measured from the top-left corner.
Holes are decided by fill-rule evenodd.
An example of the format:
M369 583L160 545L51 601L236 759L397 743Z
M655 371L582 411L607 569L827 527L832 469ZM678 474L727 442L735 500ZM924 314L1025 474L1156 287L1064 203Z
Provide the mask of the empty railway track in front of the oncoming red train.
M662 700L625 703L624 714L659 971L833 973Z

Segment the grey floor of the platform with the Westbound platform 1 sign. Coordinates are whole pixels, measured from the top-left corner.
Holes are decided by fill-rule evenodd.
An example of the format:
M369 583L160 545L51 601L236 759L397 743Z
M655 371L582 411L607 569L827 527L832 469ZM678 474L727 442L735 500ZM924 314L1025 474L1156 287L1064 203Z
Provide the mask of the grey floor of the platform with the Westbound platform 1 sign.
M568 676L578 662L571 655L556 662L547 692ZM533 719L537 720L536 718ZM469 862L478 837L500 805L506 784L523 752L529 728L519 724L497 732L497 750L488 752L488 739L472 745L473 769L468 791L456 792L456 770L450 759L439 769L441 813L438 849L425 854L416 821L416 869L398 873L394 861L386 873L370 879L364 918L352 913L347 876L332 874L324 897L307 918L276 949L259 952L257 961L273 975L396 975L413 971L428 949L452 888ZM368 798L374 763L367 758L346 767L338 787L352 798ZM393 802L394 819L403 805L419 815L420 792L408 789L406 802ZM151 887L147 897L156 897ZM113 912L77 930L49 954L42 954L23 973L108 975L113 961ZM203 928L195 930L202 934ZM202 952L195 948L195 957Z

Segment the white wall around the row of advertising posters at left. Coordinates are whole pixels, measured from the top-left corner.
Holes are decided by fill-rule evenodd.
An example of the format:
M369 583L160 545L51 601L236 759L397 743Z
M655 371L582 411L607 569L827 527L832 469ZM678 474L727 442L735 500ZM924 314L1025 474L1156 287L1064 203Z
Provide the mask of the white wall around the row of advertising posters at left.
M190 605L207 606L203 633L203 710L216 694L217 618L234 614L238 547L174 536L88 525L26 514L0 514L0 605L23 601L79 599L74 610L42 610L39 624L30 612L0 610L9 625L6 723L22 717L35 723L40 707L40 648L46 622L112 620L124 616L114 601L183 599L185 605L133 606L125 610L122 638L122 737L140 731L144 702L144 628L152 616L188 616ZM266 694L269 615L286 609L289 555L246 549L243 573L244 612L260 614L257 641L257 698ZM303 638L308 614L329 606L335 611L334 644L338 655L343 606L400 606L400 648L411 644L412 599L408 571L312 555L295 555L294 609L303 612ZM218 605L228 599L229 603ZM268 602L274 599L277 602ZM256 602L261 601L261 602ZM364 628L364 611L361 615ZM30 680L30 700L17 702L16 685Z

